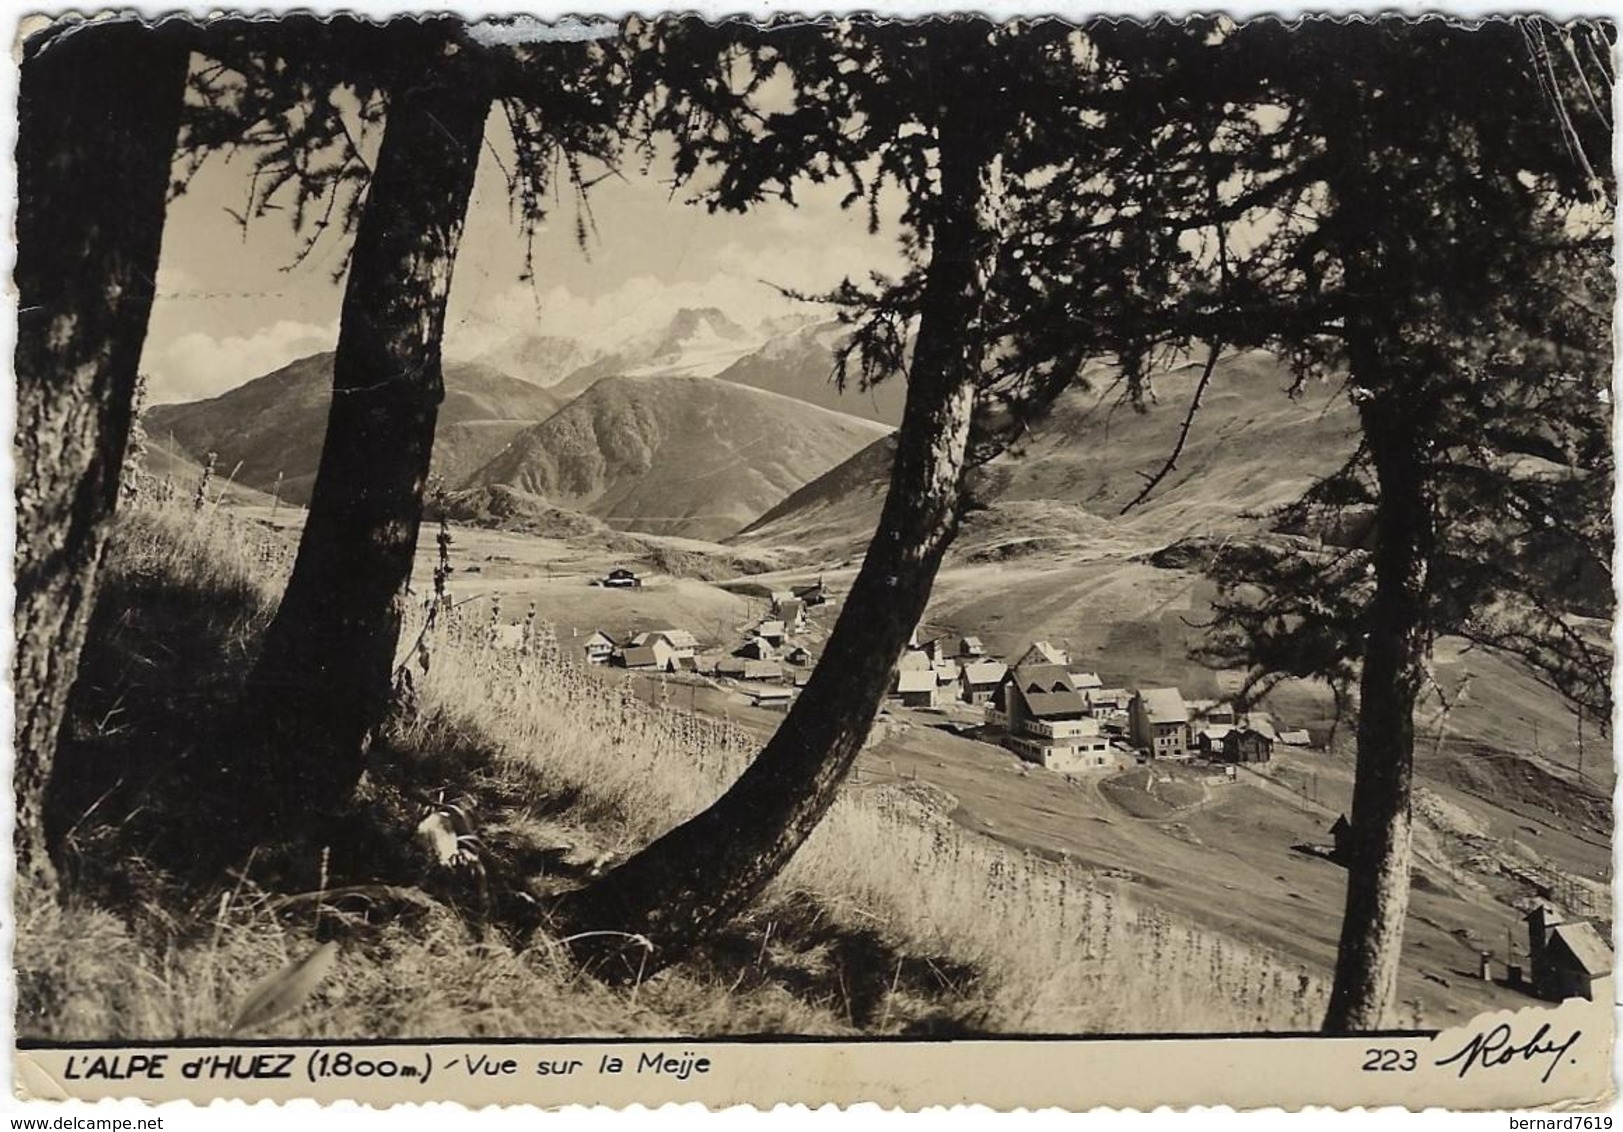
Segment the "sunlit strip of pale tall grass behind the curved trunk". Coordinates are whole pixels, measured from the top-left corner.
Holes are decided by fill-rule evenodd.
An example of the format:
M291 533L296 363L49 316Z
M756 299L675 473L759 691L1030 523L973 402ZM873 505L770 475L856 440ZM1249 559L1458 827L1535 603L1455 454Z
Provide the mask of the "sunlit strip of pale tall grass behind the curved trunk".
M643 703L623 679L573 666L544 629L526 650L487 640L476 614L438 633L424 702L477 718L544 793L575 799L571 817L610 856L706 807L756 750L738 728ZM847 789L751 921L808 898L847 931L885 939L902 970L911 955L972 971L938 991L977 1030L1313 1030L1328 992L1256 948L1165 919L1113 880L964 832L923 789Z

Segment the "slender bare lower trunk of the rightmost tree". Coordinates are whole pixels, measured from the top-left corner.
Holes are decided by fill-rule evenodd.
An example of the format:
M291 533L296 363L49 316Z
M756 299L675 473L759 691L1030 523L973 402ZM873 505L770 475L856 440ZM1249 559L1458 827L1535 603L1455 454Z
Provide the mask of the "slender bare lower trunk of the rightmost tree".
M1354 359L1358 380L1358 359ZM1375 393L1360 413L1380 484L1375 598L1358 706L1347 906L1324 1030L1355 1033L1397 1020L1397 971L1409 913L1415 700L1430 650L1427 575L1435 520L1420 443L1419 382Z

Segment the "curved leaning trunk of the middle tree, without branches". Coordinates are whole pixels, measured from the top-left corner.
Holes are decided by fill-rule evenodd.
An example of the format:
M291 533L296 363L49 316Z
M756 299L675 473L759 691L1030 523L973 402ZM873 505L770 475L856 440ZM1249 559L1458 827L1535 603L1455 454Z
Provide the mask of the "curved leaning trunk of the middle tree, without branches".
M732 788L613 872L568 893L555 927L607 981L651 974L747 908L834 802L958 531L997 250L995 143L971 109L941 125L941 200L907 403L880 526L805 692ZM617 932L639 934L651 952Z

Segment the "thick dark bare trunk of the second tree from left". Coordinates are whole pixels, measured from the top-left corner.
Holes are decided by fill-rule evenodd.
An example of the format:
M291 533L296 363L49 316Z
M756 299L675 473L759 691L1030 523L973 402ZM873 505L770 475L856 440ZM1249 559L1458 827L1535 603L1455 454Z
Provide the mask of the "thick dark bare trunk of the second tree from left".
M266 765L222 767L242 802L271 820L339 806L390 706L445 398L445 304L490 109L441 29L396 21L390 31L406 37L401 78L355 232L321 463L243 693Z

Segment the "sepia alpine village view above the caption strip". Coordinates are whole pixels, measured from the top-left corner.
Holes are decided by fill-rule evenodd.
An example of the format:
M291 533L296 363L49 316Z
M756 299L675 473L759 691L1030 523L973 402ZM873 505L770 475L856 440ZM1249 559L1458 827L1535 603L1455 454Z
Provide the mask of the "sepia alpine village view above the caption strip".
M19 1048L1464 1028L1565 1096L1615 41L24 21Z

